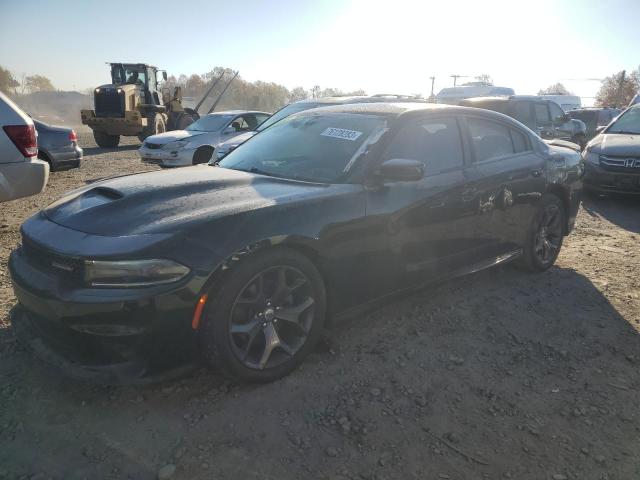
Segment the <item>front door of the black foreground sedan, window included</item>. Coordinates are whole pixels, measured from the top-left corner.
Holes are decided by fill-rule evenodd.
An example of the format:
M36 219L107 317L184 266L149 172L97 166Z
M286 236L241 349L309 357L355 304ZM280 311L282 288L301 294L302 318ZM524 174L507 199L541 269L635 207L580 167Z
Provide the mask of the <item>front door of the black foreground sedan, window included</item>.
M412 118L396 133L381 160L419 160L425 176L389 182L368 192L367 216L382 222L390 258L412 285L460 268L475 248L473 182L455 116Z

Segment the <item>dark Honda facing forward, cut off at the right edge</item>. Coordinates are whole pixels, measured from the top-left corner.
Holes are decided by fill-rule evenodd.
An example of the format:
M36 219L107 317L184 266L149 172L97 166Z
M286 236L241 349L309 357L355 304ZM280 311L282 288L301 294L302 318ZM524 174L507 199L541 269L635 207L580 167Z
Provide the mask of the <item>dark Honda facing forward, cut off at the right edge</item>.
M640 105L621 113L583 152L590 193L640 194Z

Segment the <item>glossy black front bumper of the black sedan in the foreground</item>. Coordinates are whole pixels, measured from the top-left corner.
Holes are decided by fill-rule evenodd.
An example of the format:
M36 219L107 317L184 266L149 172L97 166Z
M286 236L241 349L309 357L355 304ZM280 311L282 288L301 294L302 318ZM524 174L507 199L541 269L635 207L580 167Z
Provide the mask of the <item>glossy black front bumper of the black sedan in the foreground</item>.
M36 264L22 248L11 254L9 272L19 302L16 336L68 376L145 383L198 362L191 329L197 279L163 288L83 288Z

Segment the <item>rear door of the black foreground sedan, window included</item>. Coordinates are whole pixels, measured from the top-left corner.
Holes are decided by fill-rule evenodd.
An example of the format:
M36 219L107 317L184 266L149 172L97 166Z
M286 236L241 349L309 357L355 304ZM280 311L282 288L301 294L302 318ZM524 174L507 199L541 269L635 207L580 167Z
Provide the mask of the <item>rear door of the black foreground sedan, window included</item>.
M477 184L478 246L485 257L517 250L545 186L544 159L528 134L511 123L468 116L466 125L482 176Z

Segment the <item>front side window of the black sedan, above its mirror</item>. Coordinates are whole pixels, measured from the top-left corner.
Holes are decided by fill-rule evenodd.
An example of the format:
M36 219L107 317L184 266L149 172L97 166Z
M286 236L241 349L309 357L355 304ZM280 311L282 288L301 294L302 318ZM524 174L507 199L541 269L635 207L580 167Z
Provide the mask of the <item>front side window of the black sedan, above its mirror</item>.
M458 122L455 118L410 120L393 138L384 158L418 160L427 175L461 167L464 154Z

